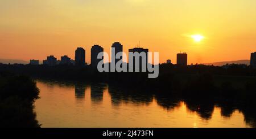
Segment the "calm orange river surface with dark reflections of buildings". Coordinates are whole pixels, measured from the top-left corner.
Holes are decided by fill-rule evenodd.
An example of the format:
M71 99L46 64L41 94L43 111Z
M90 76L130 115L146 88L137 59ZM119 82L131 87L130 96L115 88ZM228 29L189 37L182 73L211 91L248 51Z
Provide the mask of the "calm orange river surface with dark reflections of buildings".
M255 112L229 101L183 99L106 84L38 81L42 127L255 127ZM75 91L74 91L75 90ZM72 98L72 96L75 97ZM78 102L77 100L82 100Z

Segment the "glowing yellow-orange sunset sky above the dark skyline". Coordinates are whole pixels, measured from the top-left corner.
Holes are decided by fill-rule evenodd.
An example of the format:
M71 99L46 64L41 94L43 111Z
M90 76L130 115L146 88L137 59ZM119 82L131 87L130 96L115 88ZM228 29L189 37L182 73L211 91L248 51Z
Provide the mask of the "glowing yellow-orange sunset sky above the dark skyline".
M160 63L250 59L256 51L255 0L0 0L0 58L75 57L76 47L159 52ZM204 39L194 41L190 36ZM139 43L140 42L140 43Z

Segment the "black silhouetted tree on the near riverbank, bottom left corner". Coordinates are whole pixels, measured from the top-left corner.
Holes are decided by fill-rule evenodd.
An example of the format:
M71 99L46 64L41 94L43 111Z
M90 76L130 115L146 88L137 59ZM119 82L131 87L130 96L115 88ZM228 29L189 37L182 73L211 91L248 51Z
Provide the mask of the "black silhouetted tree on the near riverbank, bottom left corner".
M39 98L36 82L27 76L0 73L0 127L40 127L33 111Z

